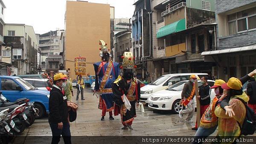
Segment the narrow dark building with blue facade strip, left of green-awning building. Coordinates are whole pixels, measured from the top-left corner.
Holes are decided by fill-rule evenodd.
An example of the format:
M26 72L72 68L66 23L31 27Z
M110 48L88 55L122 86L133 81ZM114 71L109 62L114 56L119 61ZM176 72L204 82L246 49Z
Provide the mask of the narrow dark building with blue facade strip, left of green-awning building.
M151 0L137 0L132 16L132 49L137 64L137 77L147 74L146 59L152 57Z

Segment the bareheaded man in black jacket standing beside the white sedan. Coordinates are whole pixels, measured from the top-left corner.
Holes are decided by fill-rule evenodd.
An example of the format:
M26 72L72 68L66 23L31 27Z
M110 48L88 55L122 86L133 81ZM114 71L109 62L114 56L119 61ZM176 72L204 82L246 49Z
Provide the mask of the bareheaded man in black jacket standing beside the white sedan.
M210 102L211 102L211 89L210 86L207 84L207 76L203 76L201 78L201 83L203 84L199 88L199 96L198 98L200 99L200 118L204 114L205 110L207 107L209 107ZM198 124L197 121L195 121L195 127L192 128L192 130L197 130L198 129Z

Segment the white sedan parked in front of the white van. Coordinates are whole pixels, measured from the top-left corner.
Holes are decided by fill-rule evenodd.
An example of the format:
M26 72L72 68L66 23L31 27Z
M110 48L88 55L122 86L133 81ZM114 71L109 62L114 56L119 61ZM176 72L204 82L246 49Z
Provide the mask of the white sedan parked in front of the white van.
M155 92L148 99L148 107L159 110L172 110L172 113L177 114L182 106L180 105L181 92L184 84L187 81L180 81L177 84L170 86L168 89ZM209 86L213 86L215 81L208 80L207 83ZM202 83L198 81L198 86L201 86ZM211 90L211 100L215 97L214 90ZM195 97L194 97L195 100ZM195 101L196 107L196 101Z

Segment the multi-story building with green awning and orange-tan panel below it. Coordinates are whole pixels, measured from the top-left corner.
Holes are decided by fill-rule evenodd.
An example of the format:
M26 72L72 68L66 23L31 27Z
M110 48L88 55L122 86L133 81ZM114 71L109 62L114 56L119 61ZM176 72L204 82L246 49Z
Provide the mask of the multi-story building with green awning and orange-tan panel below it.
M201 52L215 49L215 0L151 0L150 4L151 11L141 14L151 20L148 28L142 26L151 39L146 46L151 48L150 57L142 59L148 80L177 72L210 74L215 62L206 60ZM140 17L140 12L136 14ZM138 44L145 49L145 44Z

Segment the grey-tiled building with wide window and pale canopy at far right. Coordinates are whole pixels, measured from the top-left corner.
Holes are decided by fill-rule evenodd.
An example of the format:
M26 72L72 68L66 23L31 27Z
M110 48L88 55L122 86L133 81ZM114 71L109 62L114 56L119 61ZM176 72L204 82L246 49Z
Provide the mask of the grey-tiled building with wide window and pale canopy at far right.
M240 78L256 69L256 0L216 0L217 48L203 52L216 61L215 77Z

